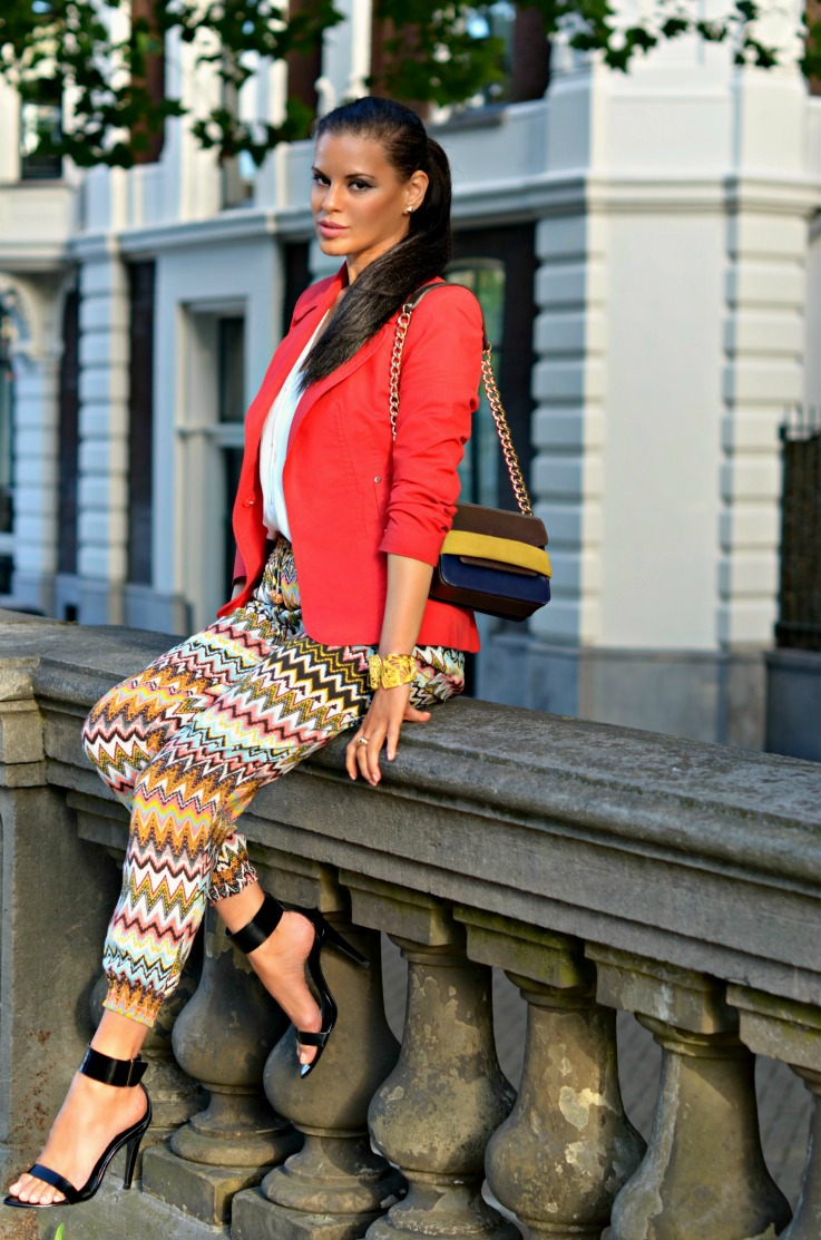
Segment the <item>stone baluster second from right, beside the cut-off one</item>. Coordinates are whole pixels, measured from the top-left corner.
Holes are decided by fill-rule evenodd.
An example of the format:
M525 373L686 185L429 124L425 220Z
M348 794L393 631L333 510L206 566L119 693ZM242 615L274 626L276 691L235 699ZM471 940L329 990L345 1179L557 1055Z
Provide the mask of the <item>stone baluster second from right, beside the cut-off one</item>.
M647 1153L616 1197L601 1240L750 1240L780 1231L790 1207L764 1162L755 1060L739 1040L723 985L630 952L587 951L599 999L634 1012L662 1048Z

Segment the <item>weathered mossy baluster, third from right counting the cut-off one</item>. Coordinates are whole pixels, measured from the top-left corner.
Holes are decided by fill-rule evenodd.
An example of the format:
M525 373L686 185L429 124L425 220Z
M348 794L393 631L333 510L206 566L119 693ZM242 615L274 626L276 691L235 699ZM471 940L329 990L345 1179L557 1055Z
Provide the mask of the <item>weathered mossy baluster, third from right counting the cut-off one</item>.
M468 955L504 968L527 1002L522 1084L485 1156L487 1183L532 1236L595 1236L645 1143L624 1114L615 1013L594 998L584 946L495 914L456 908Z

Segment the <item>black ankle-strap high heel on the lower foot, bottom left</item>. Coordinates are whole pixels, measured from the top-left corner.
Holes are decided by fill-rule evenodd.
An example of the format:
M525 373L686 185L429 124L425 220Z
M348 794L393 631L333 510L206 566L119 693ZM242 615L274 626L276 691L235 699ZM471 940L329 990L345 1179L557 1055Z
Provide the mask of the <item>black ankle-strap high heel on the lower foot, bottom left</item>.
M2 1204L16 1205L21 1209L30 1210L48 1210L58 1205L79 1205L81 1202L89 1202L99 1185L103 1183L103 1178L108 1171L112 1158L123 1148L123 1146L125 1146L123 1188L130 1188L131 1179L134 1178L134 1168L136 1167L136 1156L140 1149L140 1142L145 1136L149 1123L151 1122L151 1099L148 1095L145 1085L140 1085L146 1068L148 1064L140 1059L139 1055L136 1059L112 1059L110 1055L103 1055L99 1050L93 1050L89 1047L77 1071L82 1073L83 1076L91 1076L94 1081L102 1081L103 1085L117 1085L122 1089L126 1089L131 1085L139 1085L145 1094L145 1115L141 1120L118 1133L114 1140L109 1142L97 1159L91 1176L82 1188L74 1188L71 1180L67 1180L64 1176L61 1176L60 1172L52 1171L51 1167L43 1167L42 1163L35 1163L29 1168L29 1176L33 1176L36 1179L42 1179L43 1183L51 1184L52 1188L56 1188L63 1194L66 1198L64 1202L21 1202L19 1197L6 1197Z

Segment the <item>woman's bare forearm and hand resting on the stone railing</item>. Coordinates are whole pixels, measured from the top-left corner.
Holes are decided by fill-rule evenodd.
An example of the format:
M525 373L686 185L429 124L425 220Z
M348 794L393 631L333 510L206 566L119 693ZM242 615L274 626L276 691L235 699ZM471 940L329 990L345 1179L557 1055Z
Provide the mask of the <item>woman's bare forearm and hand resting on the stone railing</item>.
M388 593L379 639L379 655L410 655L422 627L422 615L428 601L433 568L419 559L388 556ZM366 737L367 745L356 737L348 743L345 765L351 779L361 774L373 787L379 782L379 753L387 740L388 761L397 754L402 724L424 723L429 711L410 706L410 686L376 689L356 737Z

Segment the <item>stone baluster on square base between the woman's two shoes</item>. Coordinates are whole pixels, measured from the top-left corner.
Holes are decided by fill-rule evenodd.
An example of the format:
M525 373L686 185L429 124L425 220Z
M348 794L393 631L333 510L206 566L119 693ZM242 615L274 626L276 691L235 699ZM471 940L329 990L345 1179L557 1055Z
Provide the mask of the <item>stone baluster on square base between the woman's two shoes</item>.
M262 1092L265 1058L285 1017L226 935L213 909L205 920L202 977L174 1025L180 1066L208 1091L205 1111L153 1147L143 1163L145 1192L211 1225L223 1223L242 1188L299 1143Z

